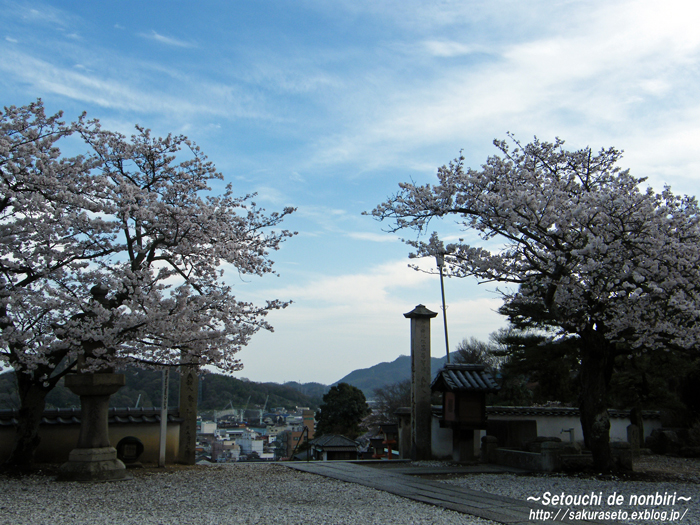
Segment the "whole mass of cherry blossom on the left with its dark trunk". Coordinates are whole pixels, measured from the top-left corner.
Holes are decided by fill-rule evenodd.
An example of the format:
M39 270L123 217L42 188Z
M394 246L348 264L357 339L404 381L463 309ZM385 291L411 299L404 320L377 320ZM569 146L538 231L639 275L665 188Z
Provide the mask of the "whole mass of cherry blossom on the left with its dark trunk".
M84 156L57 142L82 138ZM213 164L183 136L130 137L84 117L66 126L41 101L0 115L0 362L17 375L13 465L31 462L46 394L73 371L126 365L241 368L235 353L268 312L230 277L274 273L293 233L253 196L220 195Z

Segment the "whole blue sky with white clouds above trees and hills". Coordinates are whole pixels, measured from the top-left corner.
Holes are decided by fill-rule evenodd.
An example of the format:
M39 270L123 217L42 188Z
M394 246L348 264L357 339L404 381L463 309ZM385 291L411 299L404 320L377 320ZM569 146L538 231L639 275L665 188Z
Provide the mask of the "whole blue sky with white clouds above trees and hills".
M280 276L233 281L294 301L239 354L255 381L332 383L409 353L402 314L439 312L439 280L361 213L460 150L478 167L507 132L558 136L623 149L654 188L700 185L691 0L0 0L0 27L3 106L40 97L69 120L184 133L237 193L298 208ZM449 280L446 295L452 349L503 326L493 288Z

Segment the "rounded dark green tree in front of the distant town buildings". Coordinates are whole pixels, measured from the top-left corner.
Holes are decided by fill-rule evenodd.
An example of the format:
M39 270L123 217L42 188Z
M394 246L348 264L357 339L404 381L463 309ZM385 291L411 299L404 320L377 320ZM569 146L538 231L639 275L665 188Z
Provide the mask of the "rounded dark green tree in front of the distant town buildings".
M342 434L355 439L360 435L360 423L368 416L365 395L357 387L340 383L323 396L323 403L316 412L316 435Z

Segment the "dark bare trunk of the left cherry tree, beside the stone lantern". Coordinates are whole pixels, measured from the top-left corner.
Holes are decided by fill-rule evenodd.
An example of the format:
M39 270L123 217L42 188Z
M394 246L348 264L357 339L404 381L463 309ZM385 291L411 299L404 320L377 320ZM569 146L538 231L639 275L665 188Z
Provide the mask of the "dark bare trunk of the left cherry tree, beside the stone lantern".
M5 466L12 470L27 471L34 463L34 453L39 446L39 425L50 388L43 388L22 372L16 373L16 377L20 408L15 444Z

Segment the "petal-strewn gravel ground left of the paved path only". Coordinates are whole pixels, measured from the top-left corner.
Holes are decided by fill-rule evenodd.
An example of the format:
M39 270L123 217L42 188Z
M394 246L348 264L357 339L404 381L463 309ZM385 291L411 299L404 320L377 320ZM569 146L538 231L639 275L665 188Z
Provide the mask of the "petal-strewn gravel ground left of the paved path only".
M135 472L112 483L0 477L0 523L491 525L386 492L275 464Z

